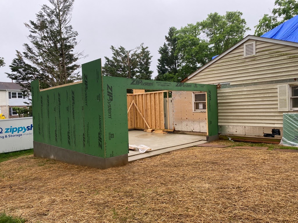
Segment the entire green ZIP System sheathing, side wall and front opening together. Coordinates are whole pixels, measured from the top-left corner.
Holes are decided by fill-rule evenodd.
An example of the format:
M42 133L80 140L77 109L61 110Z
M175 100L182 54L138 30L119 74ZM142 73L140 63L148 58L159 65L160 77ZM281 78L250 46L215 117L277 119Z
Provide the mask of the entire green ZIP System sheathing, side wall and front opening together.
M128 154L126 89L207 92L208 137L218 136L216 85L102 76L100 59L82 65L82 78L43 91L32 81L35 142L105 159Z

